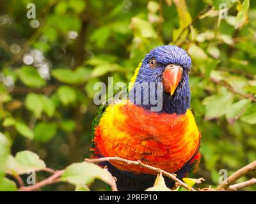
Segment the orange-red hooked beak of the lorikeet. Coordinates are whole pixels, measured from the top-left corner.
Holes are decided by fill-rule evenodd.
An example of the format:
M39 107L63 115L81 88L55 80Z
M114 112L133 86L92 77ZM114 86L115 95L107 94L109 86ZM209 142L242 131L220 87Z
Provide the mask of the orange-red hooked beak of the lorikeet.
M163 87L164 91L173 95L183 73L183 68L177 64L168 64L163 72Z

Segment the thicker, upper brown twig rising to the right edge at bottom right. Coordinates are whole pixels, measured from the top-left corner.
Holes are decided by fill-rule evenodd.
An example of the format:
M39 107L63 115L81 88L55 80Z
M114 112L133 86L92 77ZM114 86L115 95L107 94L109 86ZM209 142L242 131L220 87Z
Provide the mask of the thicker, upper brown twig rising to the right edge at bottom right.
M236 180L240 179L247 173L250 173L251 171L254 171L256 169L256 160L252 163L244 166L243 168L237 170L235 173L230 175L227 179L225 179L218 187L217 191L220 191L221 189L227 189L230 184L233 184Z

